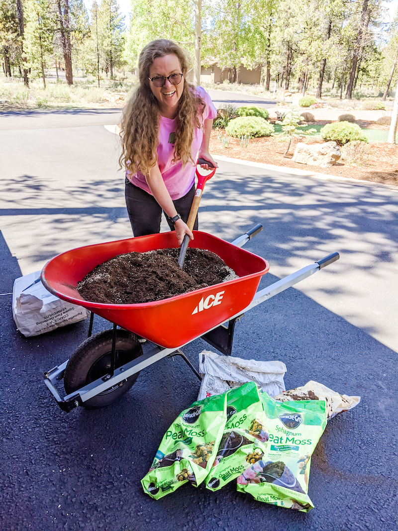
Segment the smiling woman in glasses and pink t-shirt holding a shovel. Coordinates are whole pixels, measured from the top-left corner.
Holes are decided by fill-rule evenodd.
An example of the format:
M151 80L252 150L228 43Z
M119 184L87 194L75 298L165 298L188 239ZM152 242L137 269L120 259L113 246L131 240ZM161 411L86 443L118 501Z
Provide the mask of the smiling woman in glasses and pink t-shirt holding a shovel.
M175 42L146 45L139 58L140 85L124 108L120 132L119 163L126 166L134 236L159 233L163 211L179 245L185 234L193 239L186 222L195 195L196 156L218 166L209 154L217 110L204 89L186 81L187 68L187 56Z

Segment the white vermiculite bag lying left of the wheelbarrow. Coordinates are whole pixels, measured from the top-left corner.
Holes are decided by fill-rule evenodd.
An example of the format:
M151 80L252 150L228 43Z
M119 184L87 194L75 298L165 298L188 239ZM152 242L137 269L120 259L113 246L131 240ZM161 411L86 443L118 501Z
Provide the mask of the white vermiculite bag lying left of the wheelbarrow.
M38 279L40 271L14 280L12 314L16 328L24 336L38 336L88 318L88 310L62 301L51 294ZM38 281L33 284L35 280Z

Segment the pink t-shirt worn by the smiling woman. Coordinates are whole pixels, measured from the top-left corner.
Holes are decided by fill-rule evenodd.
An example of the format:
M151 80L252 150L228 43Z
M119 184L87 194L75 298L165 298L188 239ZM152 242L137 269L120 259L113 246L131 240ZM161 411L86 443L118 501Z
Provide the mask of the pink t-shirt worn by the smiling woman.
M203 112L198 116L199 122L202 125L205 119L215 118L217 116L217 109L214 107L210 96L202 87L196 87L195 90L196 94L206 104ZM159 120L158 164L170 197L175 201L191 190L195 182L195 166L190 161L187 162L185 167L183 167L183 163L180 160L176 162L172 161L174 158L174 136L177 129L177 118L170 120L169 118L160 116ZM191 155L194 160L196 160L197 152L201 147L202 139L202 129L194 127L194 138L191 147ZM126 177L135 186L151 194L149 186L146 184L145 176L141 172L137 172L135 175L126 173Z

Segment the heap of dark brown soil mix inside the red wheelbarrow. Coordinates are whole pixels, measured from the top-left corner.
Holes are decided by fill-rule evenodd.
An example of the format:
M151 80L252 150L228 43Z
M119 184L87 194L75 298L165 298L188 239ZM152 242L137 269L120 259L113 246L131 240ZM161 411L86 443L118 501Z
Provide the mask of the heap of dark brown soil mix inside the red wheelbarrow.
M181 271L179 252L177 247L119 254L90 271L77 291L86 301L141 304L238 278L220 256L194 247L188 247Z

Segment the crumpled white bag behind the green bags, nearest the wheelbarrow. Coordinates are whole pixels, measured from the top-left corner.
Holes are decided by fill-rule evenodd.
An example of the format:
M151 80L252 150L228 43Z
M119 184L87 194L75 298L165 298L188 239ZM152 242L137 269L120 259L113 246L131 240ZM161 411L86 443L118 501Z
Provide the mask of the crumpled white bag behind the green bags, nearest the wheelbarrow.
M203 378L198 400L220 395L246 382L256 382L270 396L285 390L286 365L278 361L258 362L203 350L199 354L199 372Z

